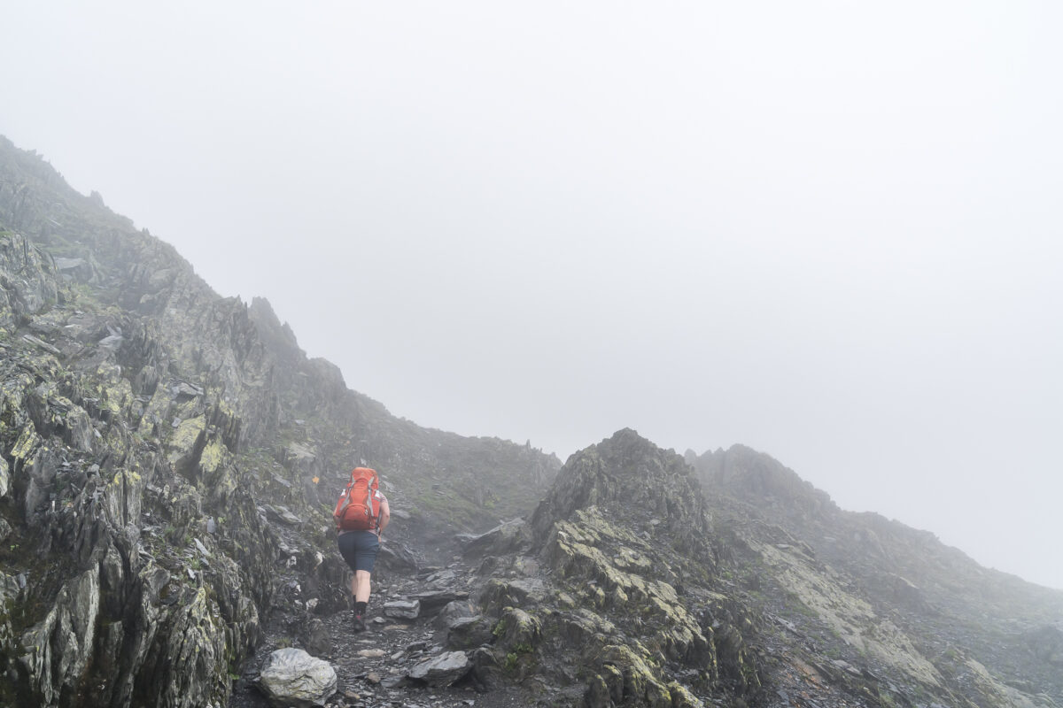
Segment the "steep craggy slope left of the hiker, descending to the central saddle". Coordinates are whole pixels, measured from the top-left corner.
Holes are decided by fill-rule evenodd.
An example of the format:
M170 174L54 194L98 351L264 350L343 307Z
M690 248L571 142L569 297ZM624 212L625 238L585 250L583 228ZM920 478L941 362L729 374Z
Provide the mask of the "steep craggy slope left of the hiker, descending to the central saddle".
M559 466L391 416L5 139L0 225L0 703L220 705L352 466L409 539L529 508Z

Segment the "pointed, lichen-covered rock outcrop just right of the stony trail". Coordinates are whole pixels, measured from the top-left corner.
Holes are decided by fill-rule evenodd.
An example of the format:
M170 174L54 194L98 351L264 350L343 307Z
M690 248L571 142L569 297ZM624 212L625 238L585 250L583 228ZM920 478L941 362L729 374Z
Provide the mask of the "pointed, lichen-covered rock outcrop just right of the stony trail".
M757 695L750 625L714 590L711 519L681 457L622 430L570 457L527 525L521 555L490 555L487 537L470 549L490 573L488 680L544 680L590 706ZM513 536L494 539L512 552Z

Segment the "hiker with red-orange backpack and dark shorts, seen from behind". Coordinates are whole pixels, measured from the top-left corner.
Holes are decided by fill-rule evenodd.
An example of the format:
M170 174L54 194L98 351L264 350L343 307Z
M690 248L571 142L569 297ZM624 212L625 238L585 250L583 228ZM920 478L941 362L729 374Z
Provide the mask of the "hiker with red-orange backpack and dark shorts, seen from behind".
M369 579L381 550L382 534L391 519L388 499L378 487L379 478L374 470L356 467L333 513L340 555L354 571L351 595L354 598L355 632L366 631Z

